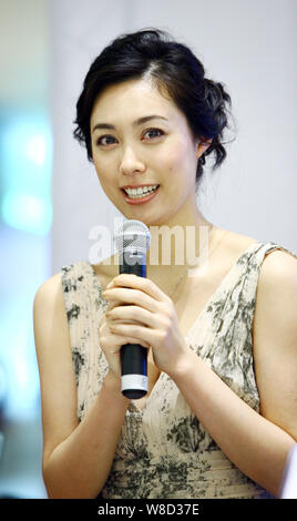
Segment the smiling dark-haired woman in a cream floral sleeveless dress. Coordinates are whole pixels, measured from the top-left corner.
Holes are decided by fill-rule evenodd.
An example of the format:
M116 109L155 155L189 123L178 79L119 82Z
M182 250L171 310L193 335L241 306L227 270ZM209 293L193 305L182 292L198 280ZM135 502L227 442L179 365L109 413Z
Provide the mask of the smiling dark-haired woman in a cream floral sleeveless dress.
M145 279L117 276L117 255L80 262L37 292L51 498L278 494L297 438L297 260L214 226L197 207L205 157L217 167L226 155L228 103L164 31L121 35L88 72L74 136L109 200L150 227L158 263L147 255ZM174 248L171 264L160 257L175 226L194 231L197 256L199 229L209 232L207 269L195 277ZM126 343L147 348L140 400L121 394Z

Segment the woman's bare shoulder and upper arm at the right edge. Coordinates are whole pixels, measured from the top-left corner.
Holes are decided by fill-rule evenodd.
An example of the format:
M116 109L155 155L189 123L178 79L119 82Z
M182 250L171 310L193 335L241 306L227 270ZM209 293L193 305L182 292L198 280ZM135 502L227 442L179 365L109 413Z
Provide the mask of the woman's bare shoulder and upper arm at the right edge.
M297 258L283 249L259 270L253 349L260 413L297 439Z

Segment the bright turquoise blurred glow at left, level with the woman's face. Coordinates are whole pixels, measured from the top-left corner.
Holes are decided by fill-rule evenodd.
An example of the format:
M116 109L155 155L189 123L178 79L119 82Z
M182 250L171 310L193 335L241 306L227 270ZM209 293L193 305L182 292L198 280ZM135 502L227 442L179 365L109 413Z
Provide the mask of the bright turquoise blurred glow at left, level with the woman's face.
M52 223L52 135L44 110L2 114L0 129L1 219L47 235Z

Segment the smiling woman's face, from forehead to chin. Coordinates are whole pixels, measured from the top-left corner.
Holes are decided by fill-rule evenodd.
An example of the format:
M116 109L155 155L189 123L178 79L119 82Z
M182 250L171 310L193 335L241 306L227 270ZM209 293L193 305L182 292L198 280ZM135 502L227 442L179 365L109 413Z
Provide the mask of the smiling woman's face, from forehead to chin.
M137 122L153 115L158 118ZM148 81L106 88L90 123L99 181L126 218L161 225L193 211L197 159L205 147L195 145L184 114ZM130 200L123 186L137 185L160 187L144 201Z

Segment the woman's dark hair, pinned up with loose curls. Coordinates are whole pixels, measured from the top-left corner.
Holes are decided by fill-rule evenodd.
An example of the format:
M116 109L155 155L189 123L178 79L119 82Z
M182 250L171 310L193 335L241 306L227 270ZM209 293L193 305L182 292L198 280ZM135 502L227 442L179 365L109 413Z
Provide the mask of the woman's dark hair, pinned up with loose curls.
M232 101L223 83L205 78L205 69L191 49L166 31L152 28L123 33L103 49L85 76L73 135L86 146L92 161L90 119L98 95L109 85L144 78L184 113L194 140L213 140L197 162L197 187L205 157L215 155L215 170L227 155L222 139L228 127L226 103L232 105Z

